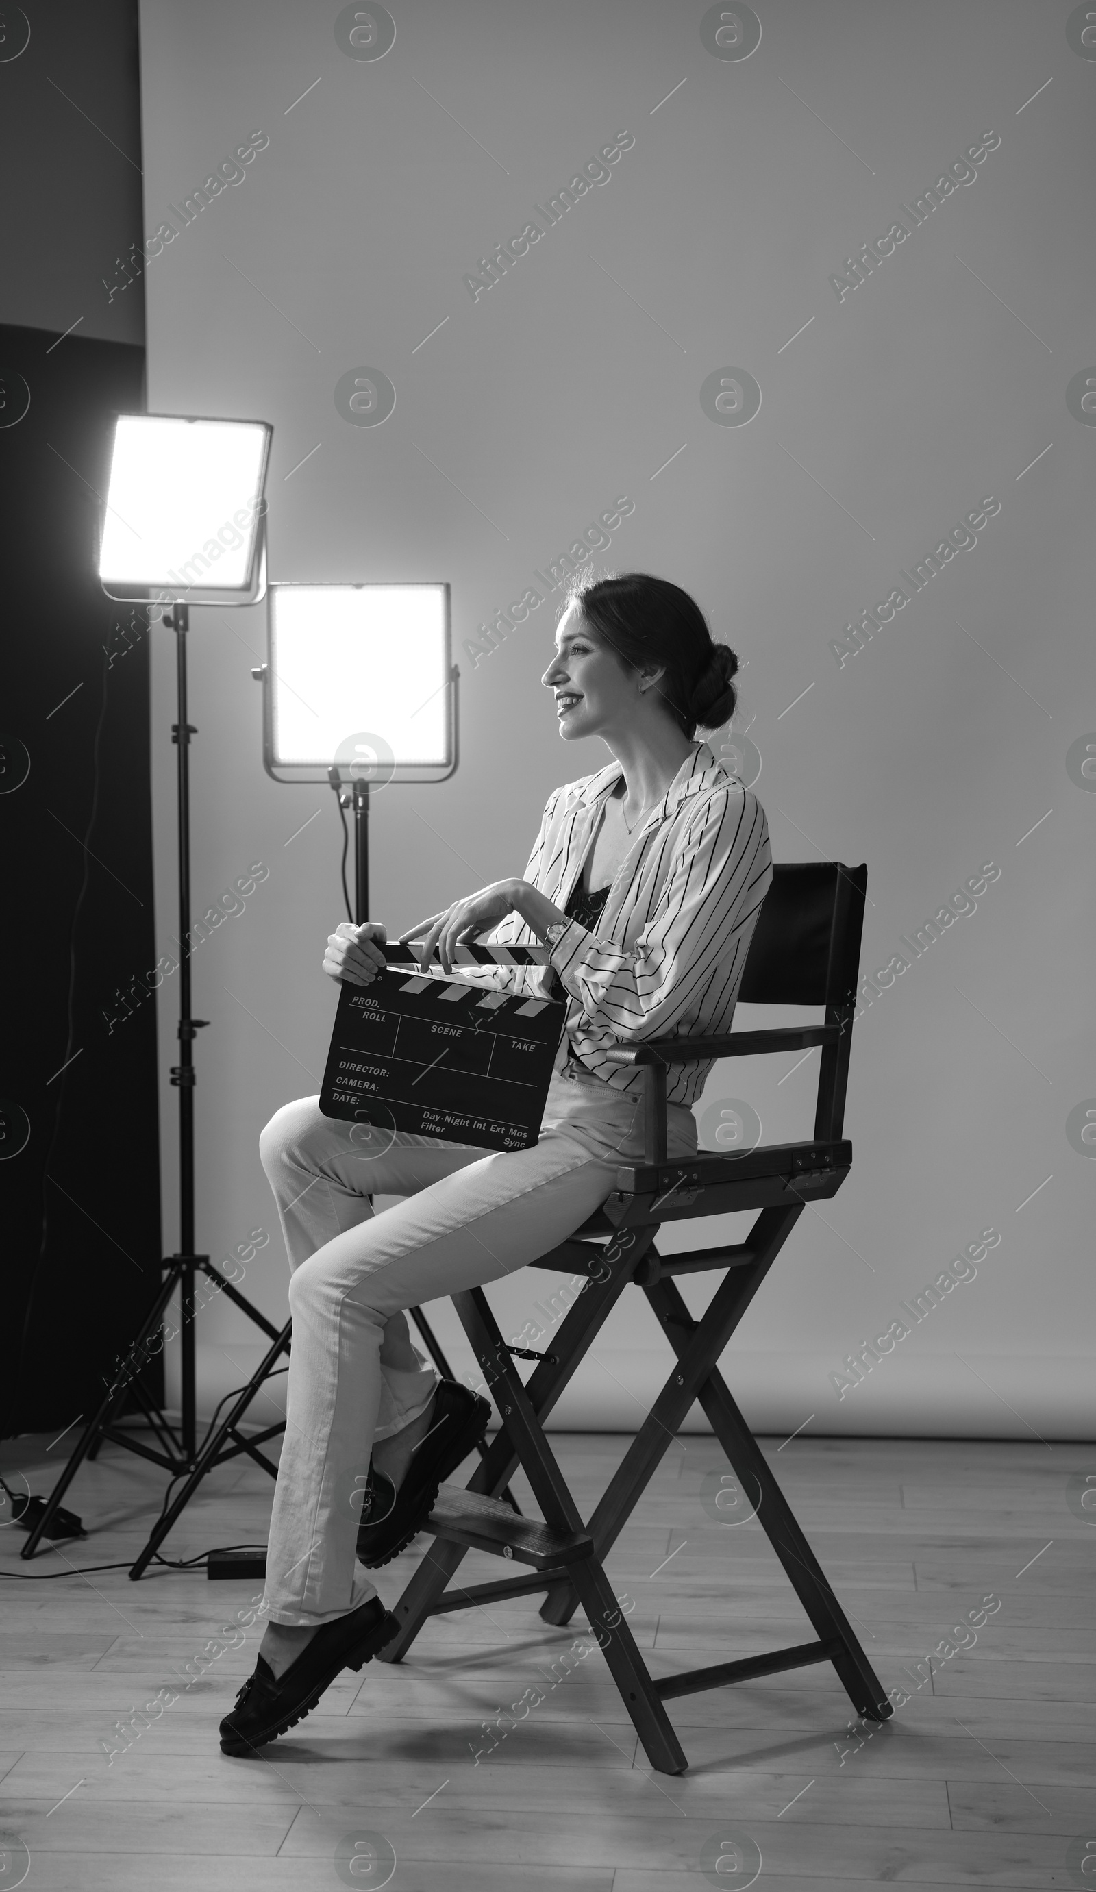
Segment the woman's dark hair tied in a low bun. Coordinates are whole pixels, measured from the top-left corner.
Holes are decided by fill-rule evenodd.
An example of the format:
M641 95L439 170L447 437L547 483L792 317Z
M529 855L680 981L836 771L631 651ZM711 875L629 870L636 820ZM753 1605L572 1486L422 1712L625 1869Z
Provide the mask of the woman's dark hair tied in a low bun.
M738 691L731 677L738 657L714 643L700 605L668 579L621 571L596 579L585 573L570 585L564 609L579 602L596 636L628 670L664 664L655 689L689 742L700 728L721 728L734 715Z

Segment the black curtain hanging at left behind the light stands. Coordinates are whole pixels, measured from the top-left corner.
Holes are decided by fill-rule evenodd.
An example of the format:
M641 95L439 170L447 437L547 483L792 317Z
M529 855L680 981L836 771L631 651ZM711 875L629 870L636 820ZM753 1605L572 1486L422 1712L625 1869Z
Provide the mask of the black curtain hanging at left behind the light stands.
M0 401L8 1438L89 1413L157 1290L155 1007L170 997L146 982L148 634L93 564L112 412L144 409L144 348L0 325ZM142 1385L163 1396L159 1362Z

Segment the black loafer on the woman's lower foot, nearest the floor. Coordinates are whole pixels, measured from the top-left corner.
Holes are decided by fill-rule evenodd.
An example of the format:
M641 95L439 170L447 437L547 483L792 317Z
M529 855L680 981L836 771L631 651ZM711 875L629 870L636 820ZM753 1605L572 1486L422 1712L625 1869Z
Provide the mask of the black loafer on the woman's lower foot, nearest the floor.
M324 1690L343 1669L362 1669L399 1635L399 1623L380 1597L371 1597L350 1616L322 1623L295 1661L274 1676L263 1656L248 1676L237 1705L221 1722L221 1754L254 1754L303 1722Z

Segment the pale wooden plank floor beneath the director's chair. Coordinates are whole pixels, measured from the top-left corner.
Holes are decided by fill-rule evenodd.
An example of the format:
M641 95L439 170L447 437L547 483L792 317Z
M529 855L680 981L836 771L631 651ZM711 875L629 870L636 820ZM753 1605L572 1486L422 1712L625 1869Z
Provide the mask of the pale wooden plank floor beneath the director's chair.
M49 1489L64 1451L45 1459L47 1444L0 1449L32 1491ZM848 1733L833 1669L801 1669L672 1701L691 1765L657 1775L596 1650L553 1682L583 1620L547 1629L539 1599L524 1599L435 1618L403 1665L345 1673L267 1758L227 1760L218 1720L257 1631L184 1691L186 1665L259 1582L0 1578L0 1886L19 1881L19 1847L28 1892L697 1892L750 1883L757 1856L769 1892L1096 1884L1077 1864L1085 1841L1096 1852L1096 1523L1068 1491L1071 1474L1096 1472L1096 1451L763 1444L884 1688L910 1688L871 1739ZM553 1445L589 1514L627 1440ZM812 1635L757 1521L719 1525L700 1504L702 1474L721 1464L714 1440L678 1442L610 1561L655 1674ZM265 1538L273 1487L257 1468L223 1468L204 1489L168 1553ZM521 1478L515 1489L528 1493ZM161 1495L153 1466L106 1447L66 1500L93 1534L61 1551L74 1565L133 1559ZM59 1551L21 1563L23 1542L0 1533L2 1570L64 1568ZM386 1603L428 1542L379 1572ZM469 1557L464 1570L483 1582L500 1565ZM924 1674L984 1597L999 1608L977 1644L937 1657L914 1691L903 1667ZM108 1761L115 1720L163 1688L178 1701ZM543 1701L500 1737L524 1690ZM723 1852L738 1869L706 1875L723 1841L738 1843ZM356 1869L339 1869L356 1843Z

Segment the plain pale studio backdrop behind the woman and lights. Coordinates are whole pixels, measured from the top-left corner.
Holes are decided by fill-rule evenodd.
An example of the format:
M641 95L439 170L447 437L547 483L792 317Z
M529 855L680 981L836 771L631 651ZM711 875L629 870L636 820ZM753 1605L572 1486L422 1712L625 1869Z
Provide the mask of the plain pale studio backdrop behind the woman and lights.
M415 0L384 49L379 8L380 38L354 47L365 8L142 0L146 231L176 231L146 271L150 409L273 420L274 579L452 585L462 764L375 798L375 916L401 927L521 872L549 791L608 759L560 744L539 689L560 592L538 575L587 528L600 568L674 579L738 649L736 728L774 857L869 865L861 969L893 971L863 988L854 1033L852 1175L803 1215L725 1360L767 1430L1090 1430L1081 11L774 0L751 49L748 8L725 8L717 38L702 6ZM543 235L505 261L496 246L530 219ZM396 395L380 424L348 409L365 369ZM606 545L600 513L619 517ZM481 626L528 587L543 604L490 651ZM863 613L893 609L895 588L909 604L873 628ZM273 1234L246 1290L280 1321L257 1137L320 1086L341 831L327 789L263 774L265 607L191 624L195 912L267 868L193 961L195 1012L214 1020L197 1042L199 1247ZM167 954L174 649L153 643ZM926 921L937 938L918 938ZM174 1007L168 978L168 1249ZM742 1007L736 1024L816 1016ZM723 1063L704 1107L742 1099L765 1141L804 1137L814 1086L816 1054ZM842 1393L850 1349L982 1232L999 1237L984 1258L958 1262L963 1279ZM555 1285L526 1270L492 1290L504 1328ZM706 1288L687 1292L700 1305ZM447 1307L432 1313L452 1340ZM199 1341L208 1408L257 1347L225 1304ZM636 1294L558 1423L628 1428L664 1372Z

